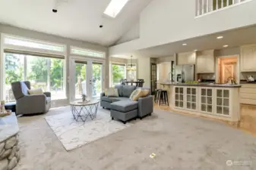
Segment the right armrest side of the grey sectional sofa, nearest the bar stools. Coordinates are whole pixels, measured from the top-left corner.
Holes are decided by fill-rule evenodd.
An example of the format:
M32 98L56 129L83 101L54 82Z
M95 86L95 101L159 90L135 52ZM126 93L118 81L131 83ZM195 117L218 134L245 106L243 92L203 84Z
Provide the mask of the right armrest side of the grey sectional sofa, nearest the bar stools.
M153 113L153 96L140 97L138 100L138 116L143 117Z

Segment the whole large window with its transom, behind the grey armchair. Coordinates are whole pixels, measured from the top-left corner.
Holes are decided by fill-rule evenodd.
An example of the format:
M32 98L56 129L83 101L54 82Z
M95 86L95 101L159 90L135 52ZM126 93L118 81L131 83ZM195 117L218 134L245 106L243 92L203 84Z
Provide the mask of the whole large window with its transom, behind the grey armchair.
M66 98L65 45L9 35L3 40L5 100L15 100L11 82L17 81L30 81L31 88L50 91L53 100Z

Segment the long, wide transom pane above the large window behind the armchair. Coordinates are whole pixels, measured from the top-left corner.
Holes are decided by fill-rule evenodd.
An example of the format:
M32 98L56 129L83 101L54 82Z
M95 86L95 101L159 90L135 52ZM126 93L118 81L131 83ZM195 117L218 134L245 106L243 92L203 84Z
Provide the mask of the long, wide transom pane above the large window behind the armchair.
M64 45L57 45L57 44L50 44L48 42L40 42L34 41L30 39L23 39L14 36L5 36L4 38L5 45L17 45L26 48L37 48L49 51L58 51L64 52L65 46Z

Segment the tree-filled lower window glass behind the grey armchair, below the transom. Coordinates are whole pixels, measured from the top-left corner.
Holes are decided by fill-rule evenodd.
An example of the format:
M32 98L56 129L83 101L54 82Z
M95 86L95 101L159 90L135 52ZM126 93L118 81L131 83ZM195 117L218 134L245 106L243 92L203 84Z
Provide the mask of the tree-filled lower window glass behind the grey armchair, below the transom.
M5 53L5 99L14 100L11 82L28 80L31 88L51 91L52 98L65 97L64 59Z

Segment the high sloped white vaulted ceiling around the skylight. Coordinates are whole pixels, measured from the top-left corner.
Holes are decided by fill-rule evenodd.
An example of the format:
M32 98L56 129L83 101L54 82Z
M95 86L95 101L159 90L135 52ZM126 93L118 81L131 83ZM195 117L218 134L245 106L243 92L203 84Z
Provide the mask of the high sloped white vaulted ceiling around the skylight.
M0 23L70 39L113 45L152 0L130 0L116 18L103 15L110 0L0 0ZM103 28L100 29L100 25Z

